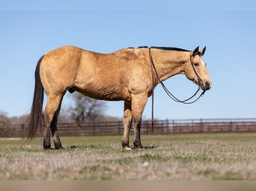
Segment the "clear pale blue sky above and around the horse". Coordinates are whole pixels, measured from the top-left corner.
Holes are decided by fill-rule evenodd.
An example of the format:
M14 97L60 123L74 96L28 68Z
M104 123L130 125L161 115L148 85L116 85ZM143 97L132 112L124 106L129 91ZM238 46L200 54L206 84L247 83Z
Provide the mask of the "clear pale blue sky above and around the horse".
M220 5L214 1L204 7L190 6L191 1L149 1L147 6L143 1L21 2L0 3L0 111L8 117L29 113L39 58L65 45L99 53L139 46L191 51L206 46L203 59L212 80L211 90L187 105L171 100L158 85L154 91L155 119L256 117L254 2L225 1ZM180 99L198 89L184 75L171 77L164 85ZM64 110L72 101L68 94L62 102ZM106 101L104 114L122 118L123 104ZM150 118L151 97L143 112L143 119Z

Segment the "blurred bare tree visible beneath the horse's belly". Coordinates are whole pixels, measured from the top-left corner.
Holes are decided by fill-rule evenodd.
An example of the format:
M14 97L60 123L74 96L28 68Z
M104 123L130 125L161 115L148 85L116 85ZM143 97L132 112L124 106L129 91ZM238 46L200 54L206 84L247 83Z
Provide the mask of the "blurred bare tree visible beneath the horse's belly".
M74 106L70 107L72 118L81 123L84 121L92 121L93 123L102 116L105 102L91 97L84 96L78 92L74 92Z

